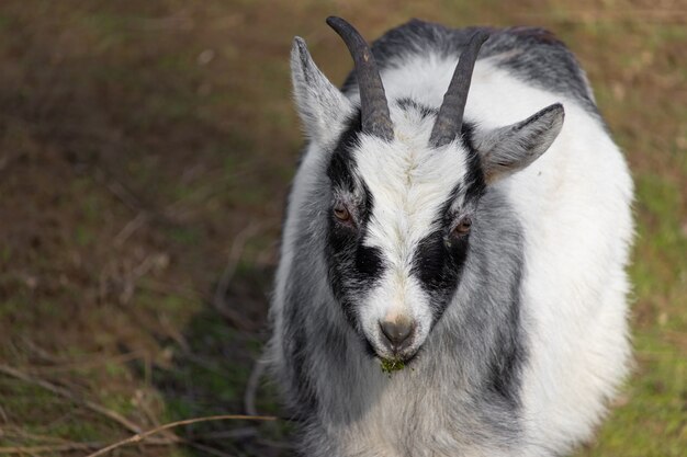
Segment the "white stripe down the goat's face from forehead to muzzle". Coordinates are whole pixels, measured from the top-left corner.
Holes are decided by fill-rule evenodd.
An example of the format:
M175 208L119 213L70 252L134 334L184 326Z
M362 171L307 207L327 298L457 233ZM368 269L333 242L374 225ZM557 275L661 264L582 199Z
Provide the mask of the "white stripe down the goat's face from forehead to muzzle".
M390 106L391 107L391 106ZM395 107L395 106L394 106ZM436 229L437 215L457 184L464 184L466 151L455 144L428 147L433 116L392 107L395 139L391 144L363 135L356 150L357 170L373 196L364 244L379 248L386 269L361 307L361 323L371 341L388 315L417 323L421 344L431 325L429 297L410 275L420 240Z

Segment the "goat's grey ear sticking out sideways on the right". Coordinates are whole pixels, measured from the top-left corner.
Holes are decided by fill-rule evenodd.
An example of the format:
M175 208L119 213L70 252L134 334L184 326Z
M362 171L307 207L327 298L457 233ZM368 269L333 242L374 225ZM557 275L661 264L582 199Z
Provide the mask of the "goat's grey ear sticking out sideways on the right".
M555 103L519 123L476 133L474 146L482 158L487 183L494 183L537 160L563 127L565 111Z

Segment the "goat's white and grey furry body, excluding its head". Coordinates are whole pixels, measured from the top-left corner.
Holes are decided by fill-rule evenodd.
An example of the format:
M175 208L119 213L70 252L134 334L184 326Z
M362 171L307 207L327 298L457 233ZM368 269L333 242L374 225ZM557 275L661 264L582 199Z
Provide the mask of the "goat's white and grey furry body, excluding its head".
M439 106L465 34L414 21L380 38L373 53L388 100ZM626 373L632 183L624 160L562 44L532 30L492 36L465 119L498 127L561 102L565 125L544 156L487 191L475 230L485 248L471 251L451 305L402 372L383 374L341 318L318 221L330 156L312 145L305 151L284 225L271 341L291 411L304 421L304 455L556 455L589 437ZM533 49L548 60L532 64ZM352 81L345 93L356 100ZM413 126L398 114L393 121L403 141Z

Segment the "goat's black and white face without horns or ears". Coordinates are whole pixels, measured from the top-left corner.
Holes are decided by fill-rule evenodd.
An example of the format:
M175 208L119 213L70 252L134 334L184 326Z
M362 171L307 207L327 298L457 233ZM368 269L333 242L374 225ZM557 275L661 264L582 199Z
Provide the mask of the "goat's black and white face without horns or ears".
M328 167L329 279L346 317L382 358L409 359L461 279L485 188L464 141L429 148L432 110L392 106L395 139L344 132Z

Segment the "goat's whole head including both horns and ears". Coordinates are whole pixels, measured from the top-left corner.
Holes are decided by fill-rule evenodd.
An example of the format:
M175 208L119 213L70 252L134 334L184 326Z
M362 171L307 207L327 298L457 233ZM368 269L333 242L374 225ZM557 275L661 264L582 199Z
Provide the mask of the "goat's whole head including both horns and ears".
M409 99L390 103L364 39L341 19L327 22L356 62L360 107L326 79L299 37L291 66L306 134L330 157L330 198L322 208L329 282L370 349L407 361L460 285L481 197L549 148L564 112L554 104L488 132L463 125L483 32L465 46L438 111Z

